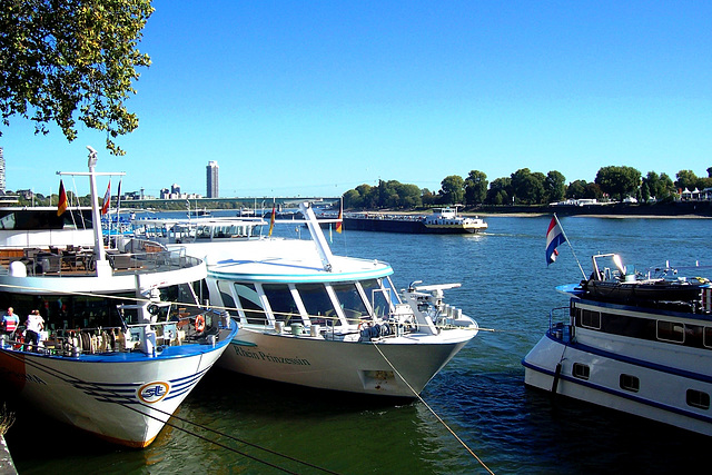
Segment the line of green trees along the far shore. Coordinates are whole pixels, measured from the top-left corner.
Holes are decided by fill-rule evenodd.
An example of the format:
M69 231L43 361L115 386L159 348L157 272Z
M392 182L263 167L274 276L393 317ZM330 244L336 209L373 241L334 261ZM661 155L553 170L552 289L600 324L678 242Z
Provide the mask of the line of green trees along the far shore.
M466 178L457 175L445 177L437 191L396 180L378 180L378 185L359 185L344 194L346 209L400 208L411 209L436 205L545 205L564 199L617 200L626 197L639 202L672 201L682 190L702 190L712 187L712 167L706 177L698 177L692 170L680 170L675 180L666 174L649 171L645 176L633 167L610 166L599 169L594 181L574 180L566 185L560 171L546 175L521 168L508 177L490 182L479 170L472 170Z

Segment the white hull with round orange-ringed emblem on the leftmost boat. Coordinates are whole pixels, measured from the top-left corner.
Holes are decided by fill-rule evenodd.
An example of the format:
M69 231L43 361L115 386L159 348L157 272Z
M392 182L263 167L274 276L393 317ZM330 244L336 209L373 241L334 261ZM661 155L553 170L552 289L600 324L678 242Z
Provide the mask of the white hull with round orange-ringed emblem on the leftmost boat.
M111 443L146 447L226 347L78 358L0 348L0 377L33 410Z

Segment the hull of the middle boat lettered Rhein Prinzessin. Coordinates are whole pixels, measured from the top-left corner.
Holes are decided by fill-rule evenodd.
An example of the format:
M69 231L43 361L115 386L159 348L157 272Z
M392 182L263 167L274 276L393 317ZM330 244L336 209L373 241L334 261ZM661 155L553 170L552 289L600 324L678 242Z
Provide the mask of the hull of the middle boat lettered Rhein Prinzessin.
M449 331L453 337L439 343L438 337L411 335L374 344L240 328L218 366L320 389L416 397L474 336L471 330Z

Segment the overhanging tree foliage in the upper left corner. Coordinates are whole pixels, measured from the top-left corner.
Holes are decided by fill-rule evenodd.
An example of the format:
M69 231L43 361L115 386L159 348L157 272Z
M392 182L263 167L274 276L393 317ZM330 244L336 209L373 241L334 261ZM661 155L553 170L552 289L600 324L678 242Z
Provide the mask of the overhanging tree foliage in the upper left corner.
M152 12L150 0L0 0L3 126L20 116L48 133L56 122L72 141L79 120L123 155L113 139L138 127L125 102L150 65L137 47Z

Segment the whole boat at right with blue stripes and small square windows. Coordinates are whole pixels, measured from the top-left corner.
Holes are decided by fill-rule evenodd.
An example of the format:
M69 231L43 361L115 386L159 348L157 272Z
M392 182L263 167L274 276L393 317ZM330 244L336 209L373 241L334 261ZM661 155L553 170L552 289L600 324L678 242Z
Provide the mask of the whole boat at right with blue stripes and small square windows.
M557 287L568 306L524 358L525 383L712 436L710 267L592 260L587 279Z

